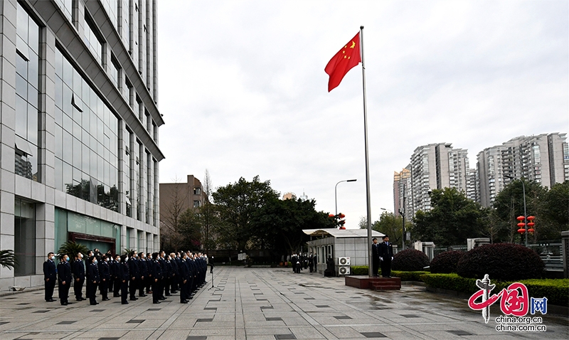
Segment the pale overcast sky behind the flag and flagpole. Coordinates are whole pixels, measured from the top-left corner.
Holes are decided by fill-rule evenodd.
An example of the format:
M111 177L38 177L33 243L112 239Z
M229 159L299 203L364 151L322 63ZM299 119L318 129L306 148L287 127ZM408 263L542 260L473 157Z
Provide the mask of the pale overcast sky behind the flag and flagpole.
M158 1L160 182L243 176L366 216L361 65L324 67L363 30L371 213L420 145L477 154L569 130L568 1Z

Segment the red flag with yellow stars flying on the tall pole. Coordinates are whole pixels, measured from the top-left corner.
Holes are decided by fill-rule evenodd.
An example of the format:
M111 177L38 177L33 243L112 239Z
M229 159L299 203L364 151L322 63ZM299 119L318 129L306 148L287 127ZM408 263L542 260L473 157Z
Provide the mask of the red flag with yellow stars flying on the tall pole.
M344 79L344 75L354 66L358 65L358 63L361 63L359 32L330 59L328 65L324 68L326 73L330 76L328 80L328 92L340 85L342 79Z

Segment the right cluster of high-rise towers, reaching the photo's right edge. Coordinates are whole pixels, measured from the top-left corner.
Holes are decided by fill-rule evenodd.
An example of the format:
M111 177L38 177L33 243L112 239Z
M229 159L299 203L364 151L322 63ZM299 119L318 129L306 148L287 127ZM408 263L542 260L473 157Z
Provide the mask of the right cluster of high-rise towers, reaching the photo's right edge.
M569 180L566 134L520 136L486 148L478 154L477 169L482 206L491 206L513 179L524 178L548 187Z

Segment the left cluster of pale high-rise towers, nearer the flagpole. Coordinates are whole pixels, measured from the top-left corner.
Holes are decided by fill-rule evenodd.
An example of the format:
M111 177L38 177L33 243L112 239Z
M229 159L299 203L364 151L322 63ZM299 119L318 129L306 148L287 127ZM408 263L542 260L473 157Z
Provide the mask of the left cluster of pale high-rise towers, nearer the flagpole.
M405 179L405 176L409 176L408 179ZM472 186L470 180L467 149L454 149L451 143L417 147L411 156L411 163L401 173L395 173L395 212L403 206L403 187L405 218L412 218L419 210L430 210L432 189L457 188L467 193Z

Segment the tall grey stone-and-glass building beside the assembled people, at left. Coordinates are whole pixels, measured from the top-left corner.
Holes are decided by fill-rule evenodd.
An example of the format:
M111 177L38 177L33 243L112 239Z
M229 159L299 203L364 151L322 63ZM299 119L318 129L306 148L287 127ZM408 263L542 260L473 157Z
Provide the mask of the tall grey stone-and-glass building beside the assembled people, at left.
M0 287L68 240L159 249L156 0L0 1ZM70 254L72 255L72 254Z

